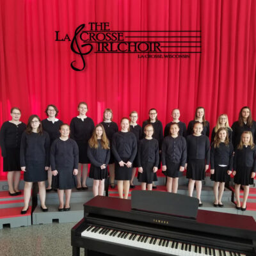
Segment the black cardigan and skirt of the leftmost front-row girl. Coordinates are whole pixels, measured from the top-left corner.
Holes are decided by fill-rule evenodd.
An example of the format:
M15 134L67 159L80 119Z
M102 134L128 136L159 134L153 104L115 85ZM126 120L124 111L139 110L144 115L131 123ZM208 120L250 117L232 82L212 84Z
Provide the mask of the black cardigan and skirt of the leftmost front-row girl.
M49 151L50 138L47 132L23 132L20 143L20 166L26 166L25 181L47 180L45 166L50 166Z

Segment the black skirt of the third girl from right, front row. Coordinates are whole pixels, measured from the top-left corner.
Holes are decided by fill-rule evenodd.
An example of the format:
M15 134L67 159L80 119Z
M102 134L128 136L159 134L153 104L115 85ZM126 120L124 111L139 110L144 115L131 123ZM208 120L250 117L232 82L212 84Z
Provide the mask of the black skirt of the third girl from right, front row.
M188 161L187 178L192 180L204 180L205 159L190 159Z

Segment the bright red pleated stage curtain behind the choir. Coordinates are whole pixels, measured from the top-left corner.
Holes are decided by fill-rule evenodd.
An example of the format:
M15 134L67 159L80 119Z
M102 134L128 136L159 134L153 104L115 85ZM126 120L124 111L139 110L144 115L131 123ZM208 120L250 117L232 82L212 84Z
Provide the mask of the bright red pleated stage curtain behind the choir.
M0 123L10 119L10 108L22 110L21 120L56 104L59 118L70 122L77 104L88 103L95 123L104 108L113 109L114 121L139 113L139 123L156 108L159 120L170 122L173 108L188 124L195 108L204 106L211 124L227 113L232 124L239 109L248 105L255 117L256 1L246 0L1 0L0 5ZM111 31L163 31L161 38L133 41L187 41L202 48L166 51L202 51L189 58L138 58L138 54L94 53L81 56L71 41L56 42L88 22L109 22ZM166 31L201 31L191 33ZM131 35L131 33L129 34ZM133 34L134 36L135 34ZM136 33L152 35L150 32ZM163 38L163 36L201 38ZM195 44L190 41L199 41ZM201 43L200 43L201 41ZM179 46L180 43L169 45ZM147 55L147 54L140 54ZM3 174L3 173L0 173Z

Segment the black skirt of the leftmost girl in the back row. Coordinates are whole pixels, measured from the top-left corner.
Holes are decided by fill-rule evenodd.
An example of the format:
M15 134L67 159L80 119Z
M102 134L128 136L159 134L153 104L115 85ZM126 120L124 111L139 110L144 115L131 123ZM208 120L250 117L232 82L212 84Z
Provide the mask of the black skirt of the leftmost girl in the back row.
M3 157L3 171L20 171L20 148L6 148L6 157Z

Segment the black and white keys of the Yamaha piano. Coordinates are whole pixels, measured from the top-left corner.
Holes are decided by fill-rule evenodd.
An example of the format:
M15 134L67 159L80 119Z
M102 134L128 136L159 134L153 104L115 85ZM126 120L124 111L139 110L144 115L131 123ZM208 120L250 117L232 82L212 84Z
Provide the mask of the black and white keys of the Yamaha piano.
M124 232L111 228L89 226L81 234L82 237L98 239L116 244L124 244L154 252L182 255L182 256L246 256L243 253L230 252L212 247L198 246L195 244L181 243L169 239L143 236L132 232Z

